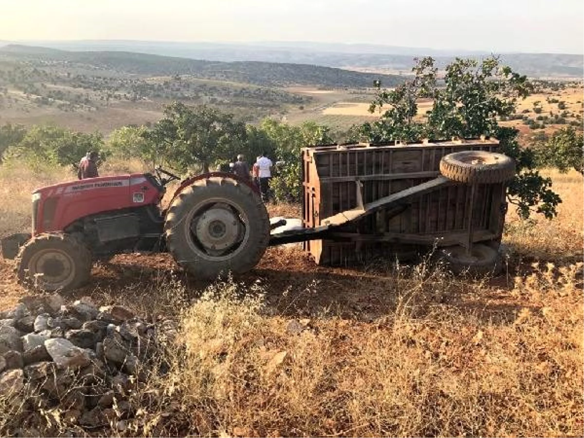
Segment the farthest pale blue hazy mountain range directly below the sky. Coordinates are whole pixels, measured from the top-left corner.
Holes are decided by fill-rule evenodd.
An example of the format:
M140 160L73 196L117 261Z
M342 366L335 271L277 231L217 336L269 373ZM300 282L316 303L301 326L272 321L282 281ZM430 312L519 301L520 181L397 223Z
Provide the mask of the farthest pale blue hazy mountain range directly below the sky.
M0 46L9 41L0 41ZM84 40L26 41L26 44L68 51L107 51L162 55L206 61L257 61L310 64L343 69L409 72L414 57L432 56L438 67L454 57L481 58L484 51L436 50L377 44L314 43L311 41L257 43L182 43L166 41ZM505 64L530 77L584 77L584 55L504 53Z

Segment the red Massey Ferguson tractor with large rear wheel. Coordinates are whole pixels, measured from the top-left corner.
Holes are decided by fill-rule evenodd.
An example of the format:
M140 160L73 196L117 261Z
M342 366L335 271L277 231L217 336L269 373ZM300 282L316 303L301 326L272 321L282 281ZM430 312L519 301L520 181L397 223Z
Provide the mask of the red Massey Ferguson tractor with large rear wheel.
M185 180L168 209L162 169L65 182L32 195L32 235L2 239L19 280L41 290L68 290L89 280L95 260L124 252L169 251L205 279L252 269L266 250L270 223L256 188L229 173Z

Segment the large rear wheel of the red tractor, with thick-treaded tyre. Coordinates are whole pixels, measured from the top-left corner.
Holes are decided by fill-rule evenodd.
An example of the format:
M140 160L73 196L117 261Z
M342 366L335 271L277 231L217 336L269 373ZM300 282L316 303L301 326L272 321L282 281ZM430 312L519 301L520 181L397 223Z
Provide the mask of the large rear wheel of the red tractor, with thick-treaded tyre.
M231 178L197 180L166 214L166 246L176 262L202 279L251 270L266 251L270 220L253 190Z

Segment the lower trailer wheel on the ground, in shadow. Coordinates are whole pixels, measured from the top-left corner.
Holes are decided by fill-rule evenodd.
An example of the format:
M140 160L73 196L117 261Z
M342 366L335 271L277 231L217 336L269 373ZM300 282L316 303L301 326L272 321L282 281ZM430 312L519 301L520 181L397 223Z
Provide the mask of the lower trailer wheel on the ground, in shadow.
M472 245L470 255L463 246L447 246L440 249L440 257L454 274L468 273L474 276L500 274L501 256L495 248L484 244Z

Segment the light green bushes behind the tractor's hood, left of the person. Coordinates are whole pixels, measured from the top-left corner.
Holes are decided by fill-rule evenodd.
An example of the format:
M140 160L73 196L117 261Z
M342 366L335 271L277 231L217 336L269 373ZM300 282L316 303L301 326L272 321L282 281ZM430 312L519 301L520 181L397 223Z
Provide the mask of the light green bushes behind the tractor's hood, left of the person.
M54 126L33 126L17 145L11 147L13 157L32 163L76 166L88 151L100 153L100 133L85 134ZM102 158L103 154L102 154Z

